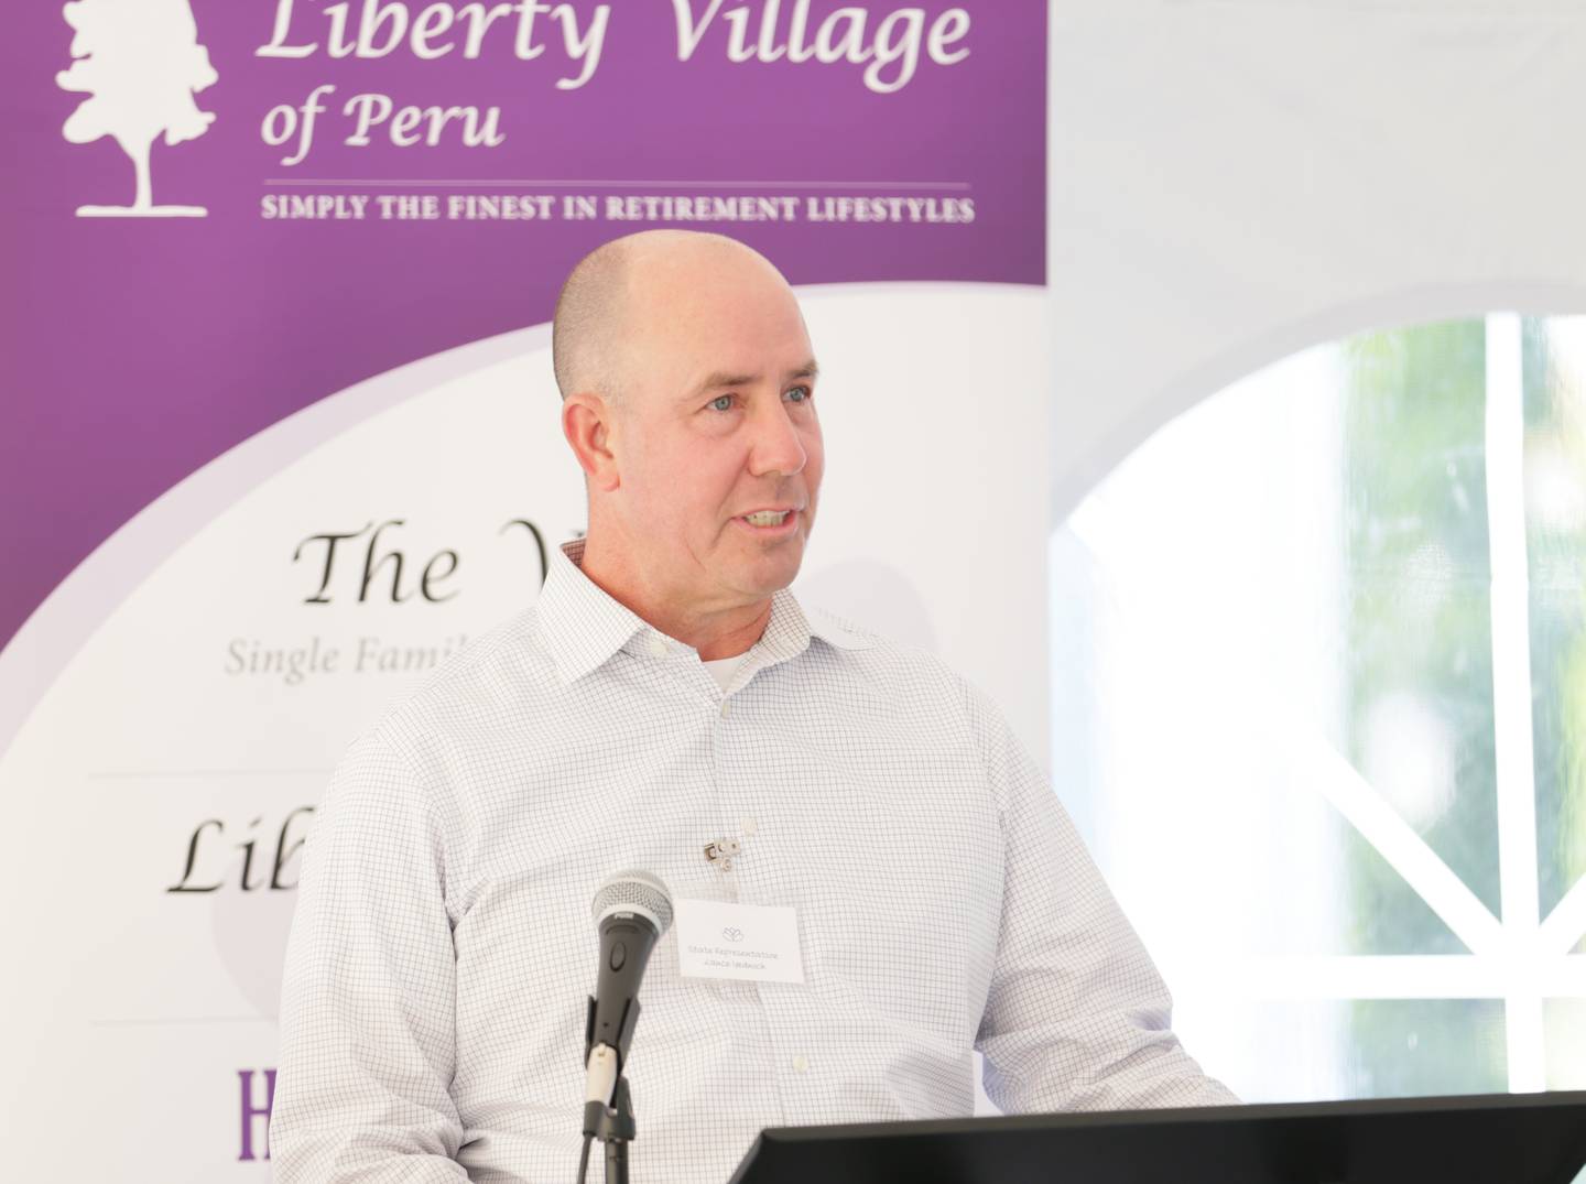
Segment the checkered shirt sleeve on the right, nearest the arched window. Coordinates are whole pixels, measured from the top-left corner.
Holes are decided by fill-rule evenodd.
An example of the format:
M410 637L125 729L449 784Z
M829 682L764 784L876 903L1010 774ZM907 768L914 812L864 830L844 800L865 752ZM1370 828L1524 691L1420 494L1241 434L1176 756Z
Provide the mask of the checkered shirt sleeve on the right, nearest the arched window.
M1004 818L1002 921L975 1046L1007 1113L1232 1105L1172 1033L1167 987L1047 778L969 691Z

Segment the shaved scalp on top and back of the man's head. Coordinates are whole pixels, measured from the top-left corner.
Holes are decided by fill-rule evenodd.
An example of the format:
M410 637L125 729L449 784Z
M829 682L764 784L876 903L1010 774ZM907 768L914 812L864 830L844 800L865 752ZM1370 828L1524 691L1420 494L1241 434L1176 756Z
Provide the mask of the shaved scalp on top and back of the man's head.
M723 257L752 260L787 284L758 250L725 235L693 230L625 235L580 258L561 285L550 323L550 358L561 398L595 393L622 406L631 380L628 344L641 320L666 312L665 301L657 307L646 296L660 295L657 287L679 269Z

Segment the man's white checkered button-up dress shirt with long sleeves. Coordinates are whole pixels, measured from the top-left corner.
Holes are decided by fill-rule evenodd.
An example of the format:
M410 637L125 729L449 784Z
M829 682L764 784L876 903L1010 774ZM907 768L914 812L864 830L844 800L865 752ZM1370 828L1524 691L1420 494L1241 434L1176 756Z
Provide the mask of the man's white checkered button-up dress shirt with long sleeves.
M363 737L305 848L281 1184L571 1184L590 899L793 905L806 981L644 978L634 1184L725 1181L766 1125L1231 1102L996 707L772 599L728 691L554 552L538 604ZM706 843L736 838L731 872ZM600 1171L598 1157L592 1173Z

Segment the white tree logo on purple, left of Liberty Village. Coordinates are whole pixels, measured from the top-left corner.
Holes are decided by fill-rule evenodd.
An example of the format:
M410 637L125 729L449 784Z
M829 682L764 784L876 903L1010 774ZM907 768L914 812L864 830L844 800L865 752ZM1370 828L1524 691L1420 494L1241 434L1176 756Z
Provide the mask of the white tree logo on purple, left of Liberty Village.
M149 151L201 136L214 122L193 92L219 79L187 0L76 0L62 14L76 30L62 90L84 98L60 133L73 144L113 136L132 157L136 190L130 206L78 206L78 217L203 217L203 206L155 206L149 193Z

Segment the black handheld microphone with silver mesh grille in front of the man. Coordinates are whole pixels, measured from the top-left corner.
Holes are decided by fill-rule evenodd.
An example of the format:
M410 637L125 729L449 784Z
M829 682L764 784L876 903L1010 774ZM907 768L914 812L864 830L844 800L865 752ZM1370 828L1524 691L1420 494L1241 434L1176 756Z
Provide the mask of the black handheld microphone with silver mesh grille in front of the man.
M650 951L672 924L672 899L649 872L619 872L595 892L590 915L600 926L600 975L584 1027L584 1102L604 1108L628 1060L639 983Z

